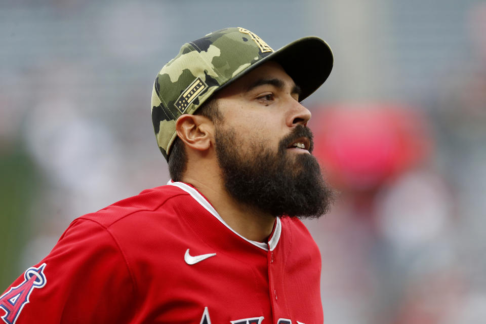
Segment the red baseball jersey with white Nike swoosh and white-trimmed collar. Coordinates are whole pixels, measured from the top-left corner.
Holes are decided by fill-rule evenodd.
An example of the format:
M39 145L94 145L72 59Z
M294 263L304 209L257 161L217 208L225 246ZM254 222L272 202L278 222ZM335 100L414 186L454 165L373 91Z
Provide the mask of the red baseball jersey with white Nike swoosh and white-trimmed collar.
M195 188L170 182L74 220L51 253L0 297L0 318L322 323L320 267L299 220L277 218L268 242L248 240Z

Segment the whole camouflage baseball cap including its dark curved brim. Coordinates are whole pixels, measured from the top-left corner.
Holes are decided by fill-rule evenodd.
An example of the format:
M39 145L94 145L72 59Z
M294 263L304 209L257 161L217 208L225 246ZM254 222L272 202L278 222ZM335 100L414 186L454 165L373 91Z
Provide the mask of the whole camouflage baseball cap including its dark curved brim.
M152 90L152 122L157 143L168 160L177 136L176 120L193 114L206 100L266 61L279 63L303 100L322 85L333 67L331 49L314 36L274 51L245 28L225 28L182 46L158 72Z

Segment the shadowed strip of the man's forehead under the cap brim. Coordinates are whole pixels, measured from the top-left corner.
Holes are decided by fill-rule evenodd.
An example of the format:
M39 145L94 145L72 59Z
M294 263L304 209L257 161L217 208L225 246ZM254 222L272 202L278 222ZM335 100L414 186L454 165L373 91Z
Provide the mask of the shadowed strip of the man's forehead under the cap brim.
M238 78L229 86L220 90L217 94L217 98L226 96L232 96L236 94L245 93L249 87L262 79L278 79L282 82L285 88L289 90L295 87L294 80L287 74L287 72L276 62L265 62L259 67L250 71L246 75Z

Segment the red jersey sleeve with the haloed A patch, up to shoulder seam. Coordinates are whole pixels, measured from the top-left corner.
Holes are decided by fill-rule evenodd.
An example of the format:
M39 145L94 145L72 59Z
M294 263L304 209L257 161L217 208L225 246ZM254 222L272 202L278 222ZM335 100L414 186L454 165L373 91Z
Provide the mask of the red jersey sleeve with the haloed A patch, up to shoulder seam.
M0 324L128 323L135 281L102 225L77 219L51 253L0 297Z

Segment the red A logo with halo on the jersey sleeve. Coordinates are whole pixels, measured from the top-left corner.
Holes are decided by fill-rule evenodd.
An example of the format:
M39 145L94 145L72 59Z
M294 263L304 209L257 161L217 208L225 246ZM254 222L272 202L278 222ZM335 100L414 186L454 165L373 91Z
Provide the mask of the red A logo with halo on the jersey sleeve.
M24 273L25 280L22 284L10 288L8 292L0 297L0 308L5 311L5 315L1 317L4 322L15 324L20 312L29 303L29 296L32 290L46 286L45 268L45 263L37 268L28 268Z

